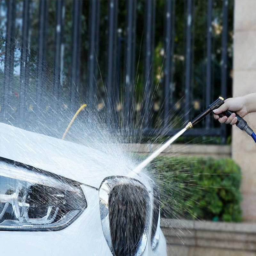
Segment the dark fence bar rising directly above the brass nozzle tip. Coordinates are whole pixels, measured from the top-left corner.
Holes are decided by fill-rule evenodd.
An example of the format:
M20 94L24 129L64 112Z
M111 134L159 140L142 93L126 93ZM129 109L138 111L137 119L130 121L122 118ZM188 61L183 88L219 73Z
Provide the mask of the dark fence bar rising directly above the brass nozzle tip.
M187 29L186 29L186 68L185 68L185 121L189 121L190 108L190 68L191 68L191 23L192 23L192 0L187 1Z

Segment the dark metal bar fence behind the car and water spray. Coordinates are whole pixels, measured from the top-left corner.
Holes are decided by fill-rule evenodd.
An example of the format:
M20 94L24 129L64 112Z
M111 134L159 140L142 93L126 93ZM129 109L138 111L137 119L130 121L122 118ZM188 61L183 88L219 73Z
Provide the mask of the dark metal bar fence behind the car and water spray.
M116 131L172 135L231 95L233 5L1 0L1 122L28 128L86 103ZM207 116L186 133L202 134L225 142L226 126Z

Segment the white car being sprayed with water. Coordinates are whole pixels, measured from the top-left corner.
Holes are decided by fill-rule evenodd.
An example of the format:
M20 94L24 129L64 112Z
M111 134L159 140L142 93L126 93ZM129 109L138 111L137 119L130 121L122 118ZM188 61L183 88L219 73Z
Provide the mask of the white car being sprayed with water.
M159 192L101 151L0 124L0 255L166 256Z

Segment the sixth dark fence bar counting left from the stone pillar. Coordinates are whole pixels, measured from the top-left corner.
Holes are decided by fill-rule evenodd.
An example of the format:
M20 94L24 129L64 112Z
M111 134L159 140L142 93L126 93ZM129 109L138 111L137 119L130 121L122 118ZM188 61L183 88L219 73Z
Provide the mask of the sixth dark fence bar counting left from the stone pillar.
M136 1L127 1L126 63L125 63L125 127L131 128L134 99L134 52L136 32Z

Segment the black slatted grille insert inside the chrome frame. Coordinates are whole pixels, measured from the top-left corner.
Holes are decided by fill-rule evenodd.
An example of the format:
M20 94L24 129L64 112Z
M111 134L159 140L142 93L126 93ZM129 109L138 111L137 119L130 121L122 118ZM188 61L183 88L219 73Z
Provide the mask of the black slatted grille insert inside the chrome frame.
M138 251L146 225L147 194L144 188L131 184L117 185L111 190L109 222L116 256L133 256Z

